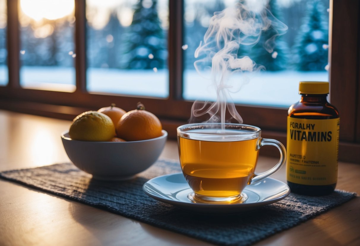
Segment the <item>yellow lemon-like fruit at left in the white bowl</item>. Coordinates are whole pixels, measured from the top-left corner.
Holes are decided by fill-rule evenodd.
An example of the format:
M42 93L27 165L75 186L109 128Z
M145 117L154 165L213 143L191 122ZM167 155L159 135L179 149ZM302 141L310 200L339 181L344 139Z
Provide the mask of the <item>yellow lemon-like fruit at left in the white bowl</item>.
M69 136L81 141L108 141L116 136L114 123L106 114L86 111L73 120Z

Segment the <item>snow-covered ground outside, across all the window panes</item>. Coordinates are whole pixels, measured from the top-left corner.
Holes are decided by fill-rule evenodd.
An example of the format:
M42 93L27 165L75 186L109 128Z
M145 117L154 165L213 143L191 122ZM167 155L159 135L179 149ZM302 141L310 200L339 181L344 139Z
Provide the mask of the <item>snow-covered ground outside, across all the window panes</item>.
M0 66L0 85L6 85L7 70ZM44 90L75 90L75 69L56 67L22 67L21 85ZM168 96L168 71L117 70L106 68L87 69L87 90L91 92L118 93L126 95ZM231 83L239 89L231 94L235 103L289 107L297 100L299 81L328 81L324 72L262 72L241 84L243 77L232 76ZM242 86L240 86L242 85ZM233 89L234 90L234 89ZM184 72L184 99L216 100L211 81L194 70Z

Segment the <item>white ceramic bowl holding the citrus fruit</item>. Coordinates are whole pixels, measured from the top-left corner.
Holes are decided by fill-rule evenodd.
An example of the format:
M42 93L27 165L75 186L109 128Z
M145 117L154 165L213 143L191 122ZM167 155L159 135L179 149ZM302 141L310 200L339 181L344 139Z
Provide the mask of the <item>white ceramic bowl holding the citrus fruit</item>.
M161 154L167 139L162 136L132 142L78 141L66 131L61 135L65 151L80 170L95 179L126 180L150 167Z

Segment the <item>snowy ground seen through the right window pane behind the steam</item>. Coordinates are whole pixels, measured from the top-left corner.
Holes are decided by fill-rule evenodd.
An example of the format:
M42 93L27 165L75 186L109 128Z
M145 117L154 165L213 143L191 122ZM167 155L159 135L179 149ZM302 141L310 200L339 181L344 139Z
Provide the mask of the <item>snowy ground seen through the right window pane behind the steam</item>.
M287 108L300 99L299 81L328 81L328 72L261 72L241 85L242 80L243 77L239 75L231 77L231 85L237 92L230 96L235 103ZM185 99L216 100L216 91L213 88L208 79L199 76L195 71L184 73Z

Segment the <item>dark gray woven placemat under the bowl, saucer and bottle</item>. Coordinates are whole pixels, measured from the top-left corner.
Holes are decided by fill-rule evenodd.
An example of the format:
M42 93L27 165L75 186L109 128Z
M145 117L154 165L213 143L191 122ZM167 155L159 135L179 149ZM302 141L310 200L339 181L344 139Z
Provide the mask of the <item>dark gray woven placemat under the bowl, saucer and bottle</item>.
M93 180L70 163L4 171L0 177L219 245L250 245L356 197L339 190L324 197L291 193L246 214L195 214L154 200L142 190L148 179L179 172L179 166L158 160L137 178L122 182Z

